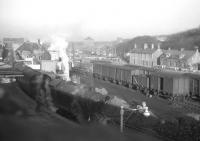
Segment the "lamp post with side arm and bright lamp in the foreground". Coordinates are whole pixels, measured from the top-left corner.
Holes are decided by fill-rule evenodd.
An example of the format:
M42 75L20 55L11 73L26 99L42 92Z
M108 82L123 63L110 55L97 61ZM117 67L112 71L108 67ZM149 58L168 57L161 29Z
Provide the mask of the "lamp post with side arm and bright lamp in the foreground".
M146 106L146 102L142 102L142 106L138 105L136 109L132 109L132 108L124 108L123 106L121 106L120 108L120 132L123 133L123 128L124 128L124 112L125 110L129 110L129 111L140 111L143 113L143 115L145 117L149 117L150 116L150 112L148 110L148 107ZM132 114L132 113L131 113ZM130 114L130 116L131 116ZM129 117L130 117L129 116ZM129 118L128 117L128 118Z

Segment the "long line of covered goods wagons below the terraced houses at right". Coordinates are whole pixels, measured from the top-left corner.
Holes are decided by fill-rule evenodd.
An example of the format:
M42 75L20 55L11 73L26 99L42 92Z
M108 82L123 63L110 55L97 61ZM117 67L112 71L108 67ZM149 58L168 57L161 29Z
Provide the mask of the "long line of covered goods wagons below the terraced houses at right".
M97 66L98 67L97 67ZM200 96L200 75L131 65L94 63L94 72L118 84L169 96Z

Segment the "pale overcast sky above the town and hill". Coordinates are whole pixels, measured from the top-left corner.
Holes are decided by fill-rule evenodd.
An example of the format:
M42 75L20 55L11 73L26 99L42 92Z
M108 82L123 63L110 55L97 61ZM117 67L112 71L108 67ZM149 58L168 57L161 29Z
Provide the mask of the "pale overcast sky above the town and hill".
M200 0L0 0L0 38L169 34L198 27L199 7Z

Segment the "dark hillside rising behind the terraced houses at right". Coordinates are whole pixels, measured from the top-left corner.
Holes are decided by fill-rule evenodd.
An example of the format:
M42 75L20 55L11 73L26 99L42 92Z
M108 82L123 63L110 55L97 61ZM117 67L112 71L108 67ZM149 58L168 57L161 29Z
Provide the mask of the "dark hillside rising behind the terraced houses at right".
M200 28L194 28L187 31L159 36L138 36L131 40L119 43L116 45L117 55L123 57L125 53L129 52L137 44L138 48L144 47L144 44L154 44L157 47L161 43L161 49L177 49L184 48L185 50L194 50L195 46L200 47Z

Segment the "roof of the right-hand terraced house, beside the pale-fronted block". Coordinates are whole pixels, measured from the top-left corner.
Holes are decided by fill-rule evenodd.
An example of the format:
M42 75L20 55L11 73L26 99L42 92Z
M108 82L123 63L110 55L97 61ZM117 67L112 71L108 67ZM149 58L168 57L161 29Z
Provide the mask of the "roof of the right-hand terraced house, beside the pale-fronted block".
M163 54L165 56L169 55L168 58L171 59L180 59L180 60L188 60L195 54L195 51L191 50L163 50Z

